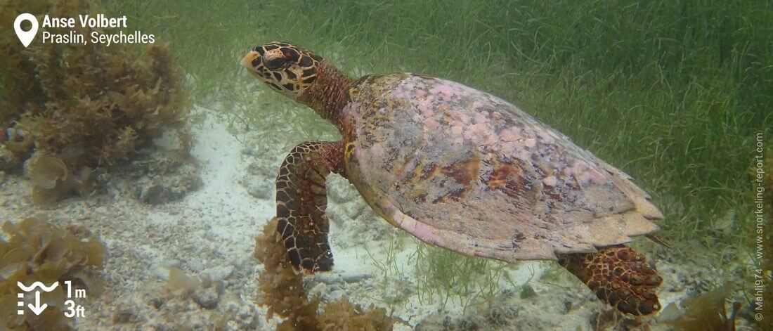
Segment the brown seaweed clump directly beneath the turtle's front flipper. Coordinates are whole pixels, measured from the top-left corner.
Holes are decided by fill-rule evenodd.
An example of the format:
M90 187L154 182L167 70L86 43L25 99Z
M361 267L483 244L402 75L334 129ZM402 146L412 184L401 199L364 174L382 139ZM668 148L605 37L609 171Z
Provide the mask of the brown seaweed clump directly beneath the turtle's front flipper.
M382 308L362 309L348 299L325 305L318 313L319 298L309 299L303 288L303 275L296 275L287 260L287 251L278 241L277 219L266 224L255 240L255 258L263 262L258 276L258 300L268 307L267 318L284 318L278 330L391 330L397 319L386 316Z

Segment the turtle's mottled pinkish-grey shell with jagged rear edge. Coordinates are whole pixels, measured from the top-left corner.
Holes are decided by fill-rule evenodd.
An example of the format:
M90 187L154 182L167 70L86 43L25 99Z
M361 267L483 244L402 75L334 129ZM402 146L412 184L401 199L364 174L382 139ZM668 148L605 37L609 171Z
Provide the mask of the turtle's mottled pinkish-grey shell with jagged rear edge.
M349 92L346 174L421 241L512 262L657 230L662 214L630 177L507 101L410 73L363 77Z

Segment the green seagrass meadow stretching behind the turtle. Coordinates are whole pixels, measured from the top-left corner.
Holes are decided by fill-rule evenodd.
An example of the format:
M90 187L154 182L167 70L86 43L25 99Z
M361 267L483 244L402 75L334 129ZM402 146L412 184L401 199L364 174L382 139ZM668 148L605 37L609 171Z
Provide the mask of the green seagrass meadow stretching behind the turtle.
M773 133L770 2L107 7L169 43L197 102L222 104L233 121L281 135L288 146L337 132L281 95L256 100L252 77L236 63L272 40L312 49L352 77L427 73L511 101L652 193L674 254L728 266L749 257L753 139Z

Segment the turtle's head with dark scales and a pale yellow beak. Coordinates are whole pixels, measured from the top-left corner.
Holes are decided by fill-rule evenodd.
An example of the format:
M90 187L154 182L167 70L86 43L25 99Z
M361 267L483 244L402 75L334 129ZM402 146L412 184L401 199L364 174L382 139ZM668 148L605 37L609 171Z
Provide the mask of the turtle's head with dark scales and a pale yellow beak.
M314 84L322 57L288 43L253 47L241 60L254 77L293 99Z

